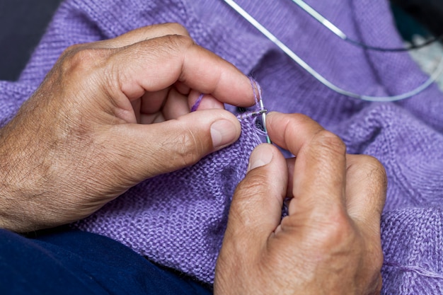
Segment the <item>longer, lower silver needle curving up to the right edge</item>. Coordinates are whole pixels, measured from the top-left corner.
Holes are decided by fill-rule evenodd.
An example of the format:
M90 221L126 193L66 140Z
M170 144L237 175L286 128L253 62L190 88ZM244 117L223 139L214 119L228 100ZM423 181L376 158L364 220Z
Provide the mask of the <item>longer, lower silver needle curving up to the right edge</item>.
M251 25L253 25L257 30L260 31L263 35L265 35L269 40L274 42L277 47L279 47L284 53L286 53L294 62L297 62L299 66L301 66L305 71L307 71L309 74L311 74L315 79L317 79L319 82L321 82L324 86L330 88L330 90L335 91L337 93L342 94L343 96L349 96L351 98L359 98L361 100L367 100L367 101L381 101L381 102L389 102L389 101L396 101L396 100L403 100L405 98L410 98L412 96L417 95L418 93L424 91L427 87L432 85L432 83L435 82L439 74L443 71L443 55L442 58L440 58L439 64L437 68L435 69L434 73L430 76L429 79L427 79L425 82L423 82L420 86L417 88L406 92L399 94L397 96L365 96L362 94L354 93L352 91L347 91L343 88L340 88L330 82L325 77L321 76L316 70L314 70L309 64L307 64L303 59L301 59L295 52L293 52L287 45L285 45L282 41L280 41L275 35L270 33L267 28L265 28L261 23L259 23L255 18L253 18L248 12L246 12L241 6L238 6L235 1L233 0L224 0L226 4L231 6L238 14L240 14L243 18L246 19Z

